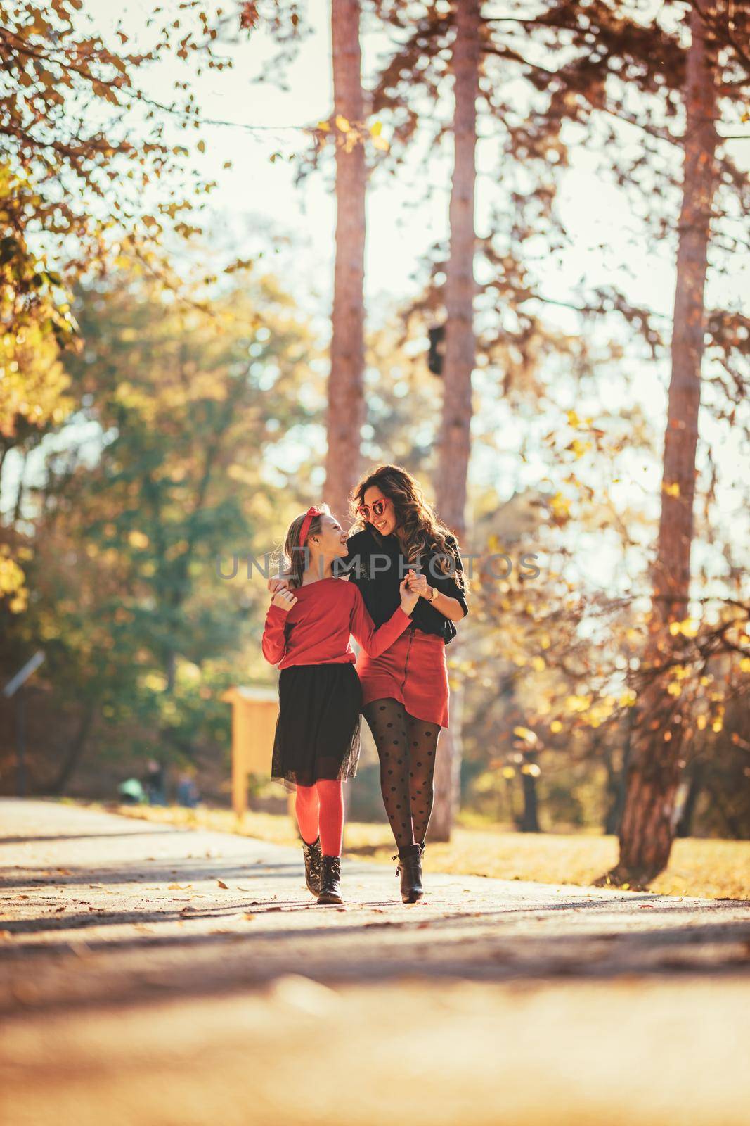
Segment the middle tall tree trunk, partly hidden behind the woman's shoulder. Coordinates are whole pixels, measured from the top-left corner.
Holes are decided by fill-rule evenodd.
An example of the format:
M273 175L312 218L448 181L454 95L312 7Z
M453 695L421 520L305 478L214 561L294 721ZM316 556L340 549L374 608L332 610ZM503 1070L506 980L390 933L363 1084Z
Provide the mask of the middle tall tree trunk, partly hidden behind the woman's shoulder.
M454 122L451 188L451 248L445 282L445 360L443 417L435 471L437 513L462 543L466 535L467 475L471 452L471 372L475 366L475 149L480 48L479 0L460 0L453 45ZM464 546L462 544L462 546ZM459 647L451 643L451 655ZM435 804L431 839L450 840L459 804L461 696L453 692L451 726L441 735L435 763Z

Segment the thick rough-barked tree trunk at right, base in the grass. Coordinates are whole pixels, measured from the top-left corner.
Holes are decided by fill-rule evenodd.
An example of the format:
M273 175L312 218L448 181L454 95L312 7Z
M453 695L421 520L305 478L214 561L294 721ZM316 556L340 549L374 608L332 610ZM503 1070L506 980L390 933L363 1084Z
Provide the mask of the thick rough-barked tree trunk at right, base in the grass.
M675 638L670 622L687 617L693 542L695 450L701 402L704 286L715 184L716 88L714 50L697 7L690 16L685 102L685 175L679 220L672 364L665 436L661 519L652 573L652 614L644 663L653 679L638 704L620 863L612 876L648 883L667 866L674 837L675 796L681 771L679 700L667 692L659 665Z

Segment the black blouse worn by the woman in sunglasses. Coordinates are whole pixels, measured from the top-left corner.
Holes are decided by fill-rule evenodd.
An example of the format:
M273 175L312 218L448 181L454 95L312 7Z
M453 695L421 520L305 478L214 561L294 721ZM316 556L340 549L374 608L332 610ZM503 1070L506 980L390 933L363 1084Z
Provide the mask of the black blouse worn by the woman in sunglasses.
M454 536L446 536L445 542L454 556L457 571L463 571L459 545ZM398 536L381 536L368 525L362 531L349 537L349 552L334 561L334 574L347 574L362 592L364 605L377 626L381 626L400 604L399 586L406 575L409 564L401 553ZM464 616L469 613L466 595L455 579L444 574L440 569L441 555L435 549L423 552L415 570L419 569L426 575L427 583L441 595L448 595L461 604ZM400 566L399 566L400 562ZM450 565L450 560L449 560ZM436 634L448 644L455 637L455 624L444 614L431 606L425 598L418 598L412 611L412 620L424 633Z

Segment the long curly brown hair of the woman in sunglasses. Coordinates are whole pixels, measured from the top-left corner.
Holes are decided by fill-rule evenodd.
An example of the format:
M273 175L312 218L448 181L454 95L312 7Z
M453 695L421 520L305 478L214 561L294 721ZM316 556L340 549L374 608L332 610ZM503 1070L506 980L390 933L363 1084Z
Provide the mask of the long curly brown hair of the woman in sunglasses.
M405 545L405 554L409 563L417 563L422 552L433 551L442 558L437 565L443 574L451 575L461 590L466 591L467 581L463 571L451 565L449 560L455 555L448 543L452 531L435 515L432 506L425 500L424 493L412 474L400 465L379 465L369 470L354 485L350 494L352 519L355 521L350 535L361 531L365 521L356 509L364 503L368 489L379 489L383 497L392 501L396 512L396 524ZM376 537L378 529L372 526Z

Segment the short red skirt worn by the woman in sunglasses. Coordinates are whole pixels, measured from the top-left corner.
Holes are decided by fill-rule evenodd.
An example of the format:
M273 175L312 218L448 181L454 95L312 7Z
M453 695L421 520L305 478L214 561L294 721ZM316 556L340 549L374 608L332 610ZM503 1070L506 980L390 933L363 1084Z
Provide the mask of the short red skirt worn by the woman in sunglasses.
M448 663L442 637L408 626L380 656L368 656L362 650L356 671L363 705L397 699L416 720L448 727Z

